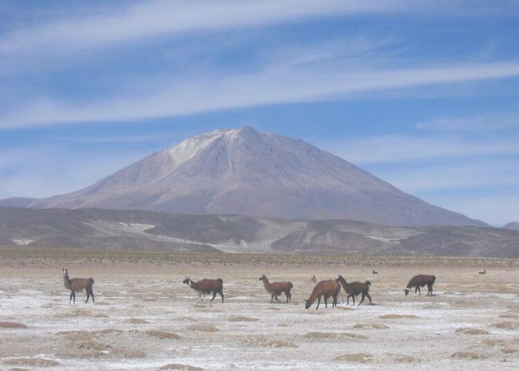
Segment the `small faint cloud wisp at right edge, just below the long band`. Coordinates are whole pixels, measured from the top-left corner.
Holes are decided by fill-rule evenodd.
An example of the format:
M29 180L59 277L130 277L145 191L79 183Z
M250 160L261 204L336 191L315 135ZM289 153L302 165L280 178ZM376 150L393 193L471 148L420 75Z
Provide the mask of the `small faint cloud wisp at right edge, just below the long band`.
M480 132L519 127L517 112L499 112L469 117L434 118L417 124L417 128L444 132Z

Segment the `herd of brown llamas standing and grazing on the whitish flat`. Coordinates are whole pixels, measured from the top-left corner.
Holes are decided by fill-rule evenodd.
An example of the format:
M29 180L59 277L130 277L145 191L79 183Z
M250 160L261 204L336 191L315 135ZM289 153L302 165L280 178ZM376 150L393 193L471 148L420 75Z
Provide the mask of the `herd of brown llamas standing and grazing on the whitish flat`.
M378 272L373 271L374 274ZM479 272L480 274L485 274L486 270ZM280 296L282 293L286 296L286 302L291 302L292 294L291 289L293 288L292 282L270 282L266 275L262 275L260 277L260 281L263 281L263 285L268 293L271 294L271 303L273 300L277 302L281 302L277 296ZM370 296L370 287L371 282L347 282L342 275L339 275L335 280L323 280L319 281L315 275L312 275L311 281L316 284L313 287L313 290L310 294L308 300L305 300L305 308L309 309L309 307L313 304L313 302L317 301L316 309L319 308L321 298L325 301L325 307L328 307L328 299L332 298L332 307L336 307L337 298L340 296L340 289L342 288L346 293L346 305L349 305L349 299L352 299L353 305L355 305L355 298L361 295L361 301L358 302L358 305L361 305L364 302L364 299L367 298L370 300L370 305L372 305L372 300ZM415 294L421 295L420 287L427 286L427 296L432 296L432 285L435 283L436 277L434 275L427 274L419 274L415 275L406 286L406 289L403 292L408 296L410 289L415 287ZM93 278L69 278L69 271L64 268L63 269L63 284L66 289L71 291L71 296L69 300L69 304L73 300L75 303L75 293L78 291L86 291L86 302L89 302L89 298L92 297L92 302L94 301L93 296ZM221 296L221 302L224 302L224 280L221 278L217 278L216 280L208 280L204 278L203 280L193 281L190 277L186 277L183 280L183 283L188 284L189 287L197 291L199 294L199 298L202 298L202 295L205 297L206 294L212 294L212 300L215 300L217 294ZM344 298L341 296L341 300L344 302Z

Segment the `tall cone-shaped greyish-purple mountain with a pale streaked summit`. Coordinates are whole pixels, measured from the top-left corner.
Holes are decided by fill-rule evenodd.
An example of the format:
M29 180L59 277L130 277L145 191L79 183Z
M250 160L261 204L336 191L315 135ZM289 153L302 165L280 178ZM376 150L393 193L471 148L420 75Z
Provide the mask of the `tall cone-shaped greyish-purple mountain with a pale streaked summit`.
M7 199L0 206L486 225L412 197L309 143L251 127L188 138L77 192Z

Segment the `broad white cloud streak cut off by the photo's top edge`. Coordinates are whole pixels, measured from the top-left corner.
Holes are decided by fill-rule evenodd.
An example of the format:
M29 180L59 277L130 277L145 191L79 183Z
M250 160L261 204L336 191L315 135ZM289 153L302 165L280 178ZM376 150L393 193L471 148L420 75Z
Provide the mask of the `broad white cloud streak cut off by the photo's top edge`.
M412 9L411 1L143 1L110 14L58 19L4 35L0 55L100 48L147 37L252 28L308 19ZM429 7L427 7L429 8Z

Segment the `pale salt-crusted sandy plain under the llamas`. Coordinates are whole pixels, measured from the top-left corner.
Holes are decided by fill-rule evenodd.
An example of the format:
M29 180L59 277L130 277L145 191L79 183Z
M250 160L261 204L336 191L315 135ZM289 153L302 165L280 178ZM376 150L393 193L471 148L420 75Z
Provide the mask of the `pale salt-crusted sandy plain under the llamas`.
M518 369L519 261L350 262L0 249L0 370ZM69 305L62 266L95 279L95 305ZM370 280L375 305L305 310L311 275L338 273ZM403 295L417 273L437 276L435 296ZM270 304L262 274L293 282L292 303ZM225 302L201 302L185 275L221 277Z

